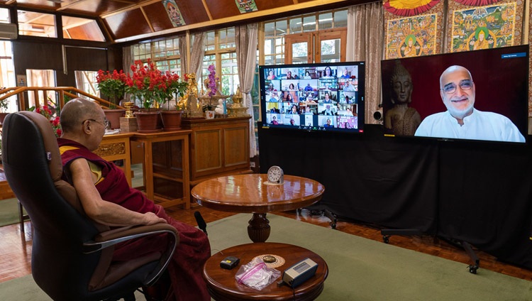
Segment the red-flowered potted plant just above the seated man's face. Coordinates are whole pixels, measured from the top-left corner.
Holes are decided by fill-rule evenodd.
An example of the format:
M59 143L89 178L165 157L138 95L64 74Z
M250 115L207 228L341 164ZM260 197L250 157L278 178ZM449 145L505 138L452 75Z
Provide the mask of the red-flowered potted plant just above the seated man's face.
M113 70L113 72L99 70L96 75L97 88L106 97L109 97L109 109L105 109L106 118L111 123L111 128L120 128L120 117L126 113L125 109L116 109L120 100L126 94L127 75Z

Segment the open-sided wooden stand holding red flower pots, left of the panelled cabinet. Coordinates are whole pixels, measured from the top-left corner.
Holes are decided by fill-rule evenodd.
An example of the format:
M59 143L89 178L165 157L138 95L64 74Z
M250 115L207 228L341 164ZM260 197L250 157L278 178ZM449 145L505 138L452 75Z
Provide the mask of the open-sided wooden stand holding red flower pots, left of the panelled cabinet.
M133 133L144 144L144 186L148 198L171 207L190 208L189 134L191 131Z

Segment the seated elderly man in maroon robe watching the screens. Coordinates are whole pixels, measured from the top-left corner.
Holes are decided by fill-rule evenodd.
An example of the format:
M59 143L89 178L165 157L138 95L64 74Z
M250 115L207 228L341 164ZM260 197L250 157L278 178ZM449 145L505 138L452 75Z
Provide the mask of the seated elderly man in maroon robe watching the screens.
M170 279L159 280L155 290L150 290L156 293L152 297L211 300L201 277L203 265L211 255L206 234L169 217L143 192L129 187L120 168L92 153L101 143L106 129L104 111L100 106L87 99L72 99L61 110L60 121L63 134L57 143L63 177L76 188L88 217L109 226L168 223L179 232L179 245L167 269ZM115 248L113 260L126 261L164 250L166 245L165 236L123 243Z

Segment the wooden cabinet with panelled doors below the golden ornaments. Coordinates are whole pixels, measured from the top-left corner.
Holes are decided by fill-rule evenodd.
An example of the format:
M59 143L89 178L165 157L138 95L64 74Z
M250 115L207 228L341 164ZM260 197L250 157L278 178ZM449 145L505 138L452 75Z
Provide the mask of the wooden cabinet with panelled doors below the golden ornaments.
M190 134L190 185L221 175L251 173L250 117L184 119Z

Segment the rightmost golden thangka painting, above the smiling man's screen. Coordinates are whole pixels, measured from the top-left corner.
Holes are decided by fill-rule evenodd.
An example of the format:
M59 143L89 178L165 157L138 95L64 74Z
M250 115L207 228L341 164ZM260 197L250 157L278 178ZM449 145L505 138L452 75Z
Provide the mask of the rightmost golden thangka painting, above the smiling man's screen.
M521 44L523 3L501 1L487 6L449 3L450 52Z

